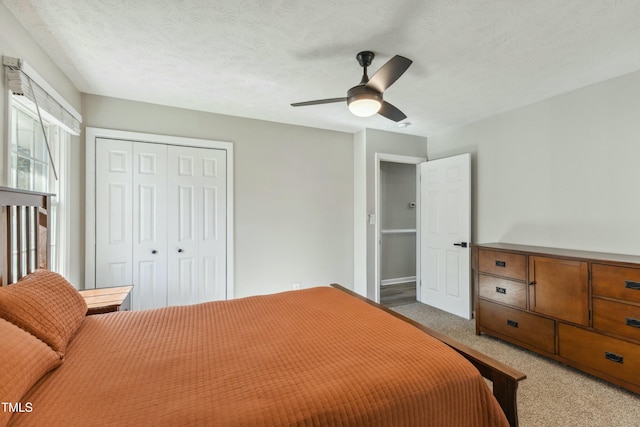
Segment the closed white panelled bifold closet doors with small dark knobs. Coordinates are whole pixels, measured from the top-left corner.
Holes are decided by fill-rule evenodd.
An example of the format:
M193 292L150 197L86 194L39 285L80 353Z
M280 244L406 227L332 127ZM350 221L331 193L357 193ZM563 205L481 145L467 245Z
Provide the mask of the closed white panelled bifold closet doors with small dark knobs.
M134 309L226 299L226 151L96 144L96 286Z

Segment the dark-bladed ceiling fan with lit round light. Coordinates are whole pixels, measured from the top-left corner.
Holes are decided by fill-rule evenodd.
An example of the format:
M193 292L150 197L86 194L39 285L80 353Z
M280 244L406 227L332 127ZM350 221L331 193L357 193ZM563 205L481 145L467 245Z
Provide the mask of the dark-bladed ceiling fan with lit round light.
M349 89L346 97L296 102L291 104L291 106L303 107L306 105L330 104L333 102L347 101L349 110L351 110L351 112L356 116L369 117L378 113L395 122L406 119L407 116L402 111L382 99L382 94L389 86L395 83L395 81L398 80L405 71L407 71L407 68L409 68L413 61L405 58L404 56L396 55L380 67L380 69L376 71L371 78L369 78L367 75L367 67L371 65L371 61L373 61L374 57L375 54L368 50L356 55L358 63L362 68L364 68L364 73L360 83Z

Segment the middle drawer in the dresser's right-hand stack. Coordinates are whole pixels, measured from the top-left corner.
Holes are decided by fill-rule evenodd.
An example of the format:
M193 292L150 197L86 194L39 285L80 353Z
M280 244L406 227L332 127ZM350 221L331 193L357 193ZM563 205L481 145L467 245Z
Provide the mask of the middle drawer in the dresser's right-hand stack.
M640 306L594 298L593 327L640 341Z

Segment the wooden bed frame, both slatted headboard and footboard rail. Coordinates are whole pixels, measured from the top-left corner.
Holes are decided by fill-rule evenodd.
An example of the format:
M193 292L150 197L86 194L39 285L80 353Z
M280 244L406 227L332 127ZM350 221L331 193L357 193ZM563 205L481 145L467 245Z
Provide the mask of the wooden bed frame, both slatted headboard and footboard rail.
M0 257L2 268L0 285L16 282L22 276L37 268L47 268L50 264L48 242L51 239L50 218L47 208L52 194L23 191L0 187ZM350 295L378 307L394 317L404 320L423 332L444 342L464 356L483 377L493 382L493 394L502 407L509 424L518 425L516 392L518 382L526 376L505 364L440 334L395 311L368 300L338 284L332 284Z

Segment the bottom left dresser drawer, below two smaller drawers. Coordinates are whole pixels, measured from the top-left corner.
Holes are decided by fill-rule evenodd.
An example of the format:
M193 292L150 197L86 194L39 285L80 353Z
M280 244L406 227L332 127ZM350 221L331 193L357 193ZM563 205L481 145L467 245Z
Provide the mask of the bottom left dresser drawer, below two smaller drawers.
M478 305L482 327L548 353L555 352L555 321L489 301L478 300Z

